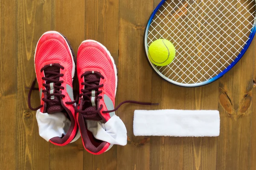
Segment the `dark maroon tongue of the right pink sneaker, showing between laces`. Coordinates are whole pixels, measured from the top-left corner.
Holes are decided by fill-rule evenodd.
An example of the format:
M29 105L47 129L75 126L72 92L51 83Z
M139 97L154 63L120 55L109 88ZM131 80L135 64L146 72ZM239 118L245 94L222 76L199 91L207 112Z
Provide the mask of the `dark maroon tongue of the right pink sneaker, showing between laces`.
M88 79L99 79L100 77L97 77L96 74L87 74L87 75L84 76L84 78L88 78ZM92 85L93 87L95 87L95 86L99 85L99 83L91 83L91 85ZM87 87L84 87L84 88L87 88ZM93 107L91 102L86 102L86 103L83 105L82 110L83 110L83 111L88 111L88 112L97 111L98 108L99 108L99 104L98 104L98 103L99 103L99 99L96 100L96 102L95 102L96 106ZM83 114L83 116L84 116L85 119L101 120L101 117L99 116L98 113L93 114L93 115L89 115L89 114L88 114L88 115L85 115L85 114Z

